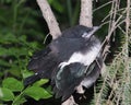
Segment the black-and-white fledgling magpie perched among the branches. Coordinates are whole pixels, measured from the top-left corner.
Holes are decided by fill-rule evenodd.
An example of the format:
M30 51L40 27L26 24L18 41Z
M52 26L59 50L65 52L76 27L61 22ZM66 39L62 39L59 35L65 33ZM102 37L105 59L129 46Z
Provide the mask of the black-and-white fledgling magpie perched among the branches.
M35 74L25 79L29 85L39 79L50 79L56 97L68 100L81 84L90 88L99 77L103 58L100 42L94 36L97 26L76 25L35 54L27 68Z

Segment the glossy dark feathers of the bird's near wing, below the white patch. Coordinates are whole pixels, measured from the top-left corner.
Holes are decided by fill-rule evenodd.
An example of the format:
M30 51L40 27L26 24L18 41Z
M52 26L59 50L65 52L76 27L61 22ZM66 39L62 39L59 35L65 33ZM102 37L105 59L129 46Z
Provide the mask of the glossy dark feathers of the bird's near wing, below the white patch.
M85 77L83 72L85 72L86 66L74 62L64 67L60 66L58 69L52 79L52 84L55 85L53 92L56 93L56 97L62 96L62 101L66 101Z

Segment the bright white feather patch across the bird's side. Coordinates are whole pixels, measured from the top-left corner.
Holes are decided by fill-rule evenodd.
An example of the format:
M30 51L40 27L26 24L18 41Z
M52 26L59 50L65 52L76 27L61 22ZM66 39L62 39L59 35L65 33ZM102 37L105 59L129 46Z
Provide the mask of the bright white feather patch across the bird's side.
M100 44L97 44L85 54L82 54L81 51L74 52L68 61L61 62L59 67L63 68L64 66L73 62L80 62L83 63L84 66L90 66L99 54L99 50Z

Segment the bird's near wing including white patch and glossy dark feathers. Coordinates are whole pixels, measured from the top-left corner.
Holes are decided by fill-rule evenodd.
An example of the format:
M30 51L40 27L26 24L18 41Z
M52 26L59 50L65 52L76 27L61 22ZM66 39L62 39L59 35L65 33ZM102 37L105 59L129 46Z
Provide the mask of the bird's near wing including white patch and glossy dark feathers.
M86 73L91 74L92 70L87 67L93 63L99 54L100 44L90 45L87 43L78 48L81 48L80 51L73 52L67 61L59 65L58 70L52 72L53 92L56 97L62 96L62 101L70 97Z

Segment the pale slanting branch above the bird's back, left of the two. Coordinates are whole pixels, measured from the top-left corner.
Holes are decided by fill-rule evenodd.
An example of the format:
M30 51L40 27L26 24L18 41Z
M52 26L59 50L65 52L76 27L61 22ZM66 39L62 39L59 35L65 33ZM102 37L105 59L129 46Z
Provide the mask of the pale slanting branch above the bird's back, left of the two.
M59 28L58 22L50 9L50 5L48 4L47 0L36 0L41 12L43 16L47 22L47 25L49 27L49 32L53 39L56 39L58 36L61 35L61 31Z

